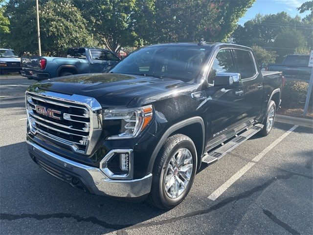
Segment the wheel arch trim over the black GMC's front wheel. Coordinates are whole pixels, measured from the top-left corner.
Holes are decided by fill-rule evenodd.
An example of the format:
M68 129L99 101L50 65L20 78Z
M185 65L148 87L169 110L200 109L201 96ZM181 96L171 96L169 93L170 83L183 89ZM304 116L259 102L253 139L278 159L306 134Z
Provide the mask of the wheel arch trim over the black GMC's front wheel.
M160 151L163 143L165 142L165 140L171 136L171 134L173 134L175 131L186 127L188 125L191 124L195 124L195 123L199 123L201 125L202 128L202 148L201 148L201 156L203 155L204 152L204 141L205 141L205 126L204 126L204 122L203 119L201 117L193 117L193 118L188 118L185 119L183 121L180 121L178 123L173 124L170 128L168 128L164 134L162 135L161 139L158 141L158 143L156 144L156 147L151 155L150 161L149 161L149 165L148 165L148 174L152 173L153 171L153 166L155 164L156 161L156 157L158 152ZM201 157L200 156L200 157ZM198 161L199 156L197 157L197 161ZM197 163L198 165L198 163Z

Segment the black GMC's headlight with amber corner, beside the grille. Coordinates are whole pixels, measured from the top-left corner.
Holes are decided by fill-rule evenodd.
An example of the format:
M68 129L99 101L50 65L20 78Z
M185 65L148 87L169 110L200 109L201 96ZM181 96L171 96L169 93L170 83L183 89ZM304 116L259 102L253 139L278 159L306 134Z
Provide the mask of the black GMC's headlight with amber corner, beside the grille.
M153 117L152 105L134 109L106 109L105 120L121 120L120 134L110 136L108 140L130 139L139 135Z

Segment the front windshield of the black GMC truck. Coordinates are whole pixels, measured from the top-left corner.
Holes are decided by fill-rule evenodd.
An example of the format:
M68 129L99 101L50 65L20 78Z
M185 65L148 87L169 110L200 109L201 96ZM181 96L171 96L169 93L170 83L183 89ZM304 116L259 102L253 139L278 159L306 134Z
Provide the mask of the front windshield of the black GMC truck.
M110 72L190 81L201 71L210 49L208 46L144 47L130 54Z

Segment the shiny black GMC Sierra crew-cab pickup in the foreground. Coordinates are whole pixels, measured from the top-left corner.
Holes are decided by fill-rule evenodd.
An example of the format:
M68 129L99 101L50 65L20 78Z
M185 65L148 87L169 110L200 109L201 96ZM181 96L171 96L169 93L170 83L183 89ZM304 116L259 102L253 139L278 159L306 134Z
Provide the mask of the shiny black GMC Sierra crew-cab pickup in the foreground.
M268 135L283 79L261 73L248 47L143 47L108 73L29 87L29 154L74 188L170 209L186 197L201 163L257 132Z

